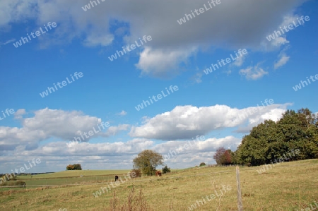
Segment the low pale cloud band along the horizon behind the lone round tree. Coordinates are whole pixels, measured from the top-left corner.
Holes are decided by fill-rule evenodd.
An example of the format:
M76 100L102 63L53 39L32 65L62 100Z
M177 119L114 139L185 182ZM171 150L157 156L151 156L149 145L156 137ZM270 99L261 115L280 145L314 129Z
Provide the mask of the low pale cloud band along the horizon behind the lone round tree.
M83 169L131 169L132 160L142 150L155 150L161 155L170 152L170 159L165 159L165 164L172 168L186 168L199 165L201 162L214 164L213 154L218 147L230 147L236 150L241 138L226 136L225 138L206 138L193 142L186 150L185 141L168 141L156 144L145 138L134 138L132 140L114 143L73 143L67 146L65 142L45 143L33 150L24 150L23 147L16 147L10 156L0 157L1 169L11 172L11 169L23 167L28 160L40 158L41 163L26 172L63 171L67 164L80 163ZM80 156L78 156L80 155ZM172 156L173 155L173 156ZM52 166L54 169L52 169ZM160 167L159 167L160 168Z

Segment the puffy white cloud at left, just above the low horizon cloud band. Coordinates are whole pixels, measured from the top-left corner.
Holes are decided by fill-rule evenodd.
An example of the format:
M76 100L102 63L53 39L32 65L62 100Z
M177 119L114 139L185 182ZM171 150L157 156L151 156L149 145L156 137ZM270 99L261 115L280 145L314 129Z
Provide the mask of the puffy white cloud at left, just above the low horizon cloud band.
M13 150L18 145L23 145L25 150L32 150L42 140L49 138L58 138L61 140L72 140L82 133L88 133L95 128L98 133L88 136L83 141L98 136L109 137L116 135L120 131L129 129L129 125L105 126L100 118L84 115L81 111L63 111L57 109L40 109L34 112L35 116L22 118L25 109L16 111L16 119L20 119L21 128L10 128L0 126L0 148L1 150ZM104 128L101 126L103 123ZM98 129L100 126L100 130ZM107 131L104 131L107 130Z

